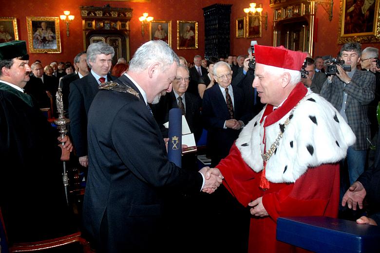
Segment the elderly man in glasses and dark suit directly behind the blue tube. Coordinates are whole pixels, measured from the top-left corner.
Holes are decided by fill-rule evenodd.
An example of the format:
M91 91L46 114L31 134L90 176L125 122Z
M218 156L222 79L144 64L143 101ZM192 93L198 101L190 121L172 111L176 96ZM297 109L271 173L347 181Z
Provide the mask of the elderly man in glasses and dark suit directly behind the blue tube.
M177 74L172 85L173 90L163 96L158 104L152 105L153 116L162 129L163 136L167 138L168 128L162 127L162 125L169 121L169 111L171 108L180 108L181 110L183 108L182 115L185 115L190 131L194 133L195 142L197 142L203 130L201 121L202 102L199 96L187 92L189 87L189 70L187 67L179 66L177 68Z

